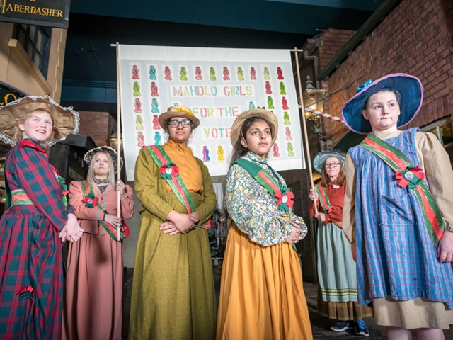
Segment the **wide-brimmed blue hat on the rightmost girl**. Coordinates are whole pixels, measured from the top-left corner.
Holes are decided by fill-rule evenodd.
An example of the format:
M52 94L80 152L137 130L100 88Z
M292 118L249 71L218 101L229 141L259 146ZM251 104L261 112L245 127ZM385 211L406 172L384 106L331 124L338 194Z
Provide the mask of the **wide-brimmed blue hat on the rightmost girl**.
M341 108L341 115L349 130L362 135L372 132L369 121L363 117L362 110L365 101L379 91L393 89L400 94L399 108L401 114L398 118L397 127L401 128L415 118L422 107L423 86L420 79L404 73L388 74L376 81L367 81L357 89L360 90L355 96Z

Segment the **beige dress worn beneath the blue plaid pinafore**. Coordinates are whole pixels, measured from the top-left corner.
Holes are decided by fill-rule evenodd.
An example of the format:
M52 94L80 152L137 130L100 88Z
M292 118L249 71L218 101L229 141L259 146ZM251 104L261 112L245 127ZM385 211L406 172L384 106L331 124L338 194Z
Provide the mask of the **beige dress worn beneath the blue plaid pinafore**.
M396 137L401 131L387 132L377 137L386 140ZM431 133L416 132L420 166L425 171L430 192L435 198L445 221L445 229L453 231L453 179L452 165L445 149ZM343 205L343 232L349 242L355 242L355 183L357 171L350 155L346 157L346 186L345 203ZM442 181L439 181L442 179ZM445 186L445 183L448 185ZM444 184L444 185L442 185ZM452 285L452 283L446 283ZM374 320L383 326L403 327L406 329L434 328L449 329L453 324L453 310L447 310L442 302L432 302L417 297L414 300L398 301L391 297L381 297L373 300Z

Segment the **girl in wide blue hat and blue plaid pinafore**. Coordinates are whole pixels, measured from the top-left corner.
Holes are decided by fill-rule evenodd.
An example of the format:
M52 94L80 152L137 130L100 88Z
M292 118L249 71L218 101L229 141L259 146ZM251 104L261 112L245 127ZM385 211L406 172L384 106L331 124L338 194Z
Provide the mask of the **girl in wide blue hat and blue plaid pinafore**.
M421 108L408 74L367 81L342 114L369 135L349 150L343 231L357 259L359 303L387 339L445 339L453 323L453 171L435 135L398 128ZM449 187L447 187L449 186Z

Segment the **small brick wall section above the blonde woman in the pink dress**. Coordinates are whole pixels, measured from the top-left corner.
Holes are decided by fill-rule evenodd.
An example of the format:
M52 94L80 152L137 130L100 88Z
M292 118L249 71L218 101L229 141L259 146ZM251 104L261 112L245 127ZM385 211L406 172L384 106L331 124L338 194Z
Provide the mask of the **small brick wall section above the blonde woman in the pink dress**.
M79 134L93 138L98 147L108 145L108 137L116 130L116 120L108 112L79 111Z

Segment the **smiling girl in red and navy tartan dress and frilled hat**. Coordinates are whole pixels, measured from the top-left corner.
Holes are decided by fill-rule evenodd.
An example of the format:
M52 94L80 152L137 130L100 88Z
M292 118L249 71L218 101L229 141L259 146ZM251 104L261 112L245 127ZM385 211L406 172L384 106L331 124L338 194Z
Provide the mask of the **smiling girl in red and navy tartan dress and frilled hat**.
M83 232L42 147L76 133L79 115L48 96L26 96L0 108L0 122L0 139L13 145L0 220L0 338L60 339L60 239Z

